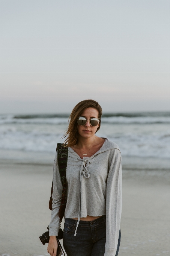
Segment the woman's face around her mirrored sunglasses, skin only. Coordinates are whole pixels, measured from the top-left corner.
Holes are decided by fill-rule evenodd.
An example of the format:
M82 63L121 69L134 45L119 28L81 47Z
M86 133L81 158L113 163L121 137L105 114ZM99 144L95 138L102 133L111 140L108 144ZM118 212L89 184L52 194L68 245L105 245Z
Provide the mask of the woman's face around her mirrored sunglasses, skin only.
M87 118L87 120L90 120L90 118L95 117L98 118L98 110L95 108L86 108L80 116L84 116ZM90 138L92 137L99 127L99 124L97 126L90 125L90 122L87 121L85 125L78 125L78 133L83 138Z

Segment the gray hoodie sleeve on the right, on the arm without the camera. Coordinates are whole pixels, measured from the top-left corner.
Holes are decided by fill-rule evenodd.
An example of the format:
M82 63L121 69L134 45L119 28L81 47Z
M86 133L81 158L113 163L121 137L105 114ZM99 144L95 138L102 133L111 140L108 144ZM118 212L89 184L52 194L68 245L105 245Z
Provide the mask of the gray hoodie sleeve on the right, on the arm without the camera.
M104 256L115 256L122 212L121 155L114 149L106 186L106 243Z

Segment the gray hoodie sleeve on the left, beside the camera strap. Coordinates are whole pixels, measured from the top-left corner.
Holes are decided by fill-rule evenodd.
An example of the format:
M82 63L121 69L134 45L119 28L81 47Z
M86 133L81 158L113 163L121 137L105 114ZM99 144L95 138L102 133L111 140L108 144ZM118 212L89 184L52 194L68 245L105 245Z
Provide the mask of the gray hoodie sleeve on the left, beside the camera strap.
M60 228L60 218L59 218L59 209L62 198L62 181L59 173L59 166L57 160L57 152L54 159L53 165L53 204L51 210L51 221L49 224L49 235L50 236L58 236L59 228Z

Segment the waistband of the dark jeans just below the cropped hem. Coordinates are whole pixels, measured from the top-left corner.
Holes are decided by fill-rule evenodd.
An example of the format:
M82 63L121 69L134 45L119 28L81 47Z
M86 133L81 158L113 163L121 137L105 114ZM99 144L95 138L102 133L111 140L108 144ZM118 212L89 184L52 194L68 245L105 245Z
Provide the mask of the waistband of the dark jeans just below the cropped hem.
M97 219L94 219L93 221L81 221L79 222L78 226L83 226L83 227L92 227L92 226L98 226L101 223L106 224L106 215L103 215ZM75 226L77 225L77 219L65 219L65 223Z

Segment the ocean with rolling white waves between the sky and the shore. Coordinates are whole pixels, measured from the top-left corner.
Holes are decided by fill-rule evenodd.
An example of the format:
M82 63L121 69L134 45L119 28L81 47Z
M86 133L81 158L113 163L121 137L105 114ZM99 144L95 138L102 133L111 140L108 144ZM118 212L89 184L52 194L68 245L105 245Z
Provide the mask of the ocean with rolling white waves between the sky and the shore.
M0 115L0 149L55 152L68 114ZM170 157L170 112L105 113L96 133L119 145L122 156Z

